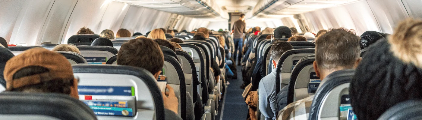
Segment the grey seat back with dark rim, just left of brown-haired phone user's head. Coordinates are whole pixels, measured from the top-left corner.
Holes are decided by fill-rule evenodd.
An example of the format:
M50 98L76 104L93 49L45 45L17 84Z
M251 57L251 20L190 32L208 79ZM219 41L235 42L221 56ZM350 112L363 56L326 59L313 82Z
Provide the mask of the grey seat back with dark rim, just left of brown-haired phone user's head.
M88 64L106 64L107 60L119 51L110 46L76 46Z

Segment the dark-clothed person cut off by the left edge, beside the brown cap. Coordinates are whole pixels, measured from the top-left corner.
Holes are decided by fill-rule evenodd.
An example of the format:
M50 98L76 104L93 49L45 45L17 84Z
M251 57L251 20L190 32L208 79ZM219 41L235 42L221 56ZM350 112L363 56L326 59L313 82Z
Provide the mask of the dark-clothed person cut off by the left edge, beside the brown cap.
M0 87L0 92L4 91L6 88L6 81L4 80L4 76L3 76L3 71L4 71L4 66L6 65L6 62L14 57L15 55L13 55L12 52L10 52L9 49L3 47L2 44L0 44L0 84L3 87Z

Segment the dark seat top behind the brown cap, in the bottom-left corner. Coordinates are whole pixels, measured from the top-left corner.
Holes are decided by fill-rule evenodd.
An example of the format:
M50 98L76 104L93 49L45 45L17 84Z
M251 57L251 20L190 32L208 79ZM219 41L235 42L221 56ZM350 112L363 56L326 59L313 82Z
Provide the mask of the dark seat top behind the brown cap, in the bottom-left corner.
M97 120L86 104L67 94L2 92L0 108L4 120Z

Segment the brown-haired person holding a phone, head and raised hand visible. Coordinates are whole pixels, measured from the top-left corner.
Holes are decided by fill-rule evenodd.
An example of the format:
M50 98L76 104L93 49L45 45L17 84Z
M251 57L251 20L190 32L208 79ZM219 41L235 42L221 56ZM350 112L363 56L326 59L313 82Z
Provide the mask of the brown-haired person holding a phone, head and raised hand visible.
M122 47L120 47L119 54L117 55L117 64L144 68L151 72L155 79L158 79L164 66L164 56L160 46L151 39L132 39L129 42L123 43ZM162 92L162 97L166 109L166 120L171 120L174 119L172 117L177 116L172 114L171 111L178 114L179 102L174 94L173 88L167 85L167 89L169 93ZM177 118L181 119L180 117Z

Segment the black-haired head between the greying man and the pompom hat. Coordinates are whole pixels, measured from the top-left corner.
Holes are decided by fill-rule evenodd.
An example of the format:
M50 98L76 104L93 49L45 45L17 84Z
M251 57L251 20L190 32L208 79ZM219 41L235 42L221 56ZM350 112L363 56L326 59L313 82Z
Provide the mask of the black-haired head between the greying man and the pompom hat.
M377 32L377 31L365 31L361 36L360 36L360 49L364 49L369 47L371 44L375 43L376 41L378 41L379 39L383 39L384 36L382 36L381 33Z

